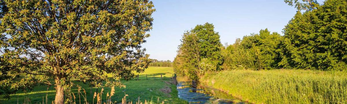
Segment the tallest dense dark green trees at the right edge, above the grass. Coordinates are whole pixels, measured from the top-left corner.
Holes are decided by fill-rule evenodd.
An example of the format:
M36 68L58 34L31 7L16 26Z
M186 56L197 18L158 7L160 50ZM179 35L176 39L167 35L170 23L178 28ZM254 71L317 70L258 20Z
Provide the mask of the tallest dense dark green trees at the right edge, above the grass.
M347 1L327 0L312 11L298 12L285 26L279 63L286 68L345 70Z

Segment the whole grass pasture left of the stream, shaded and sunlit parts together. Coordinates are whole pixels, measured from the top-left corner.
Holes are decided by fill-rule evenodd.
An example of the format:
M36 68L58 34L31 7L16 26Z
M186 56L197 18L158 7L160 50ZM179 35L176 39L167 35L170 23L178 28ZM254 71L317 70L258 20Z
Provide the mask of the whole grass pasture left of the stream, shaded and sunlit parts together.
M129 95L127 96L127 101L135 102L138 100L138 97L140 97L139 99L142 102L144 102L146 99L147 101L152 100L153 102L157 103L159 98L158 103L164 101L166 104L185 104L187 102L179 99L177 96L176 85L168 83L171 81L173 73L174 70L172 67L149 67L144 73L136 73L136 75L139 74L139 80L121 80L122 83L126 85L126 88L115 88L115 95L111 97L111 100L119 103L125 94L127 94ZM146 74L149 75L147 76L148 80L146 79ZM162 74L162 80L160 74ZM88 87L87 84L77 84L86 90L87 101L92 103L93 94L96 92L96 89ZM100 92L100 90L101 88L98 89L98 92ZM110 90L111 88L104 88L104 94L102 95L103 100L106 100L106 94L107 92L110 92ZM77 88L74 88L72 92L76 95L76 101L79 103ZM17 104L17 99L19 104L22 104L26 98L29 98L31 104L42 104L46 94L48 96L48 102L52 102L55 96L55 89L53 86L49 87L48 90L47 86L37 86L31 92L17 92L17 94L11 95L10 100L1 98L0 104ZM83 102L83 98L81 98L81 100ZM44 100L44 102L46 102L46 100Z

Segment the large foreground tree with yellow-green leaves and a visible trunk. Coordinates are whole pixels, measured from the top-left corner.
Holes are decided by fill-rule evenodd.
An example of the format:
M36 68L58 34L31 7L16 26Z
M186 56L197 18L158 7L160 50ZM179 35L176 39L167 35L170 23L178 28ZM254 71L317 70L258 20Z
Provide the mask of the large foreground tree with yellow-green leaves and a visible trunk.
M148 0L0 3L2 89L53 85L55 103L63 104L64 91L75 81L122 86L120 78L133 78L132 71L148 66L149 55L141 49L155 11Z

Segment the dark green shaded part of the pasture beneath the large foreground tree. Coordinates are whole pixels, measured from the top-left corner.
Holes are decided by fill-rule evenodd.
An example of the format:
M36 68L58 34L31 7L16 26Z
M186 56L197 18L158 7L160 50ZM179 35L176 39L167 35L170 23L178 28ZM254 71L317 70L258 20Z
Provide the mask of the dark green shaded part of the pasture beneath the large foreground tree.
M163 77L160 77L160 74L163 75ZM166 96L167 94L161 93L160 89L163 87L163 85L171 80L171 77L166 77L167 73L155 73L155 77L153 77L153 74L151 77L146 75L141 75L139 76L139 80L137 78L134 78L129 81L122 80L123 84L126 84L126 88L116 88L116 94L111 98L112 101L117 101L121 102L121 98L124 97L125 94L128 94L129 96L127 99L131 101L137 101L138 97L140 97L140 100L144 101L145 99L151 100L153 97L153 100L156 101L156 98L164 98L163 96ZM86 90L86 96L87 96L87 101L89 103L92 103L93 101L93 95L94 92L96 92L96 88L89 87L88 84L83 84L81 82L77 82L75 86L72 88L71 92L75 94L76 96L76 102L79 103L79 98L78 98L78 88L76 87L77 85L81 86ZM102 88L98 88L98 92L100 93L100 90ZM111 88L110 87L104 87L104 92L102 95L102 100L105 100L105 97L107 95L107 92L110 92ZM22 104L26 98L29 98L32 104L42 104L42 101L45 103L46 102L46 96L47 96L47 102L52 103L54 101L55 97L55 89L54 86L50 86L48 91L47 91L47 86L37 86L34 88L34 90L29 91L28 93L24 92L17 92L17 94L12 94L10 100L6 99L0 99L0 104L17 104L17 99L19 104ZM81 90L83 93L83 90ZM1 96L0 96L1 97ZM96 99L95 99L96 100ZM81 103L83 103L83 97L81 96Z

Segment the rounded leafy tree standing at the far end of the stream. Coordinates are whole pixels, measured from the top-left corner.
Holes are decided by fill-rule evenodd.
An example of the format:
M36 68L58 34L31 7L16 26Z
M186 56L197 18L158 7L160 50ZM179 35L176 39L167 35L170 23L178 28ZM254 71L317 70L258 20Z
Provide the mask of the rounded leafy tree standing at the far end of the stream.
M197 80L206 71L221 70L223 59L219 37L209 23L184 33L174 60L176 71Z

